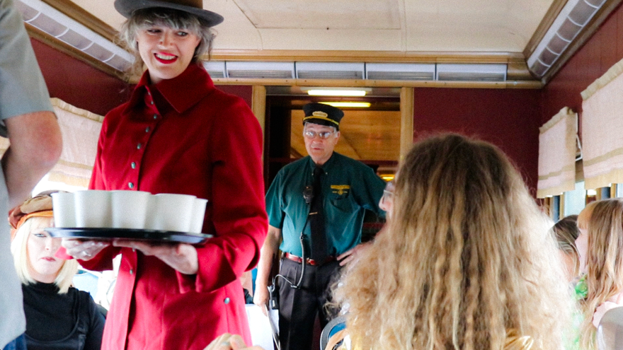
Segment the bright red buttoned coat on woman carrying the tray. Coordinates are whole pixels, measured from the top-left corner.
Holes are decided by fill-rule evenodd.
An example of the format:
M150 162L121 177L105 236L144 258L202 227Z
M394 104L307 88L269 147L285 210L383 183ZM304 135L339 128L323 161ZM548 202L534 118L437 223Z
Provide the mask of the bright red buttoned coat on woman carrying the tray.
M268 228L262 133L241 98L215 88L191 64L180 76L147 85L106 115L91 189L193 194L208 199L196 275L156 257L108 247L87 269L111 269L122 254L102 349L202 350L224 332L249 342L238 277L255 266Z

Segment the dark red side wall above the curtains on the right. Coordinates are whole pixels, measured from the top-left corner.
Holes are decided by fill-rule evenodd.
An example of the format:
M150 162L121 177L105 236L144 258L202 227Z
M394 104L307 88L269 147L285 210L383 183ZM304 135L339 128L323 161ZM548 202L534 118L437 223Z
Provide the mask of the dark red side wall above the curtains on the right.
M541 123L562 107L581 112L580 93L622 58L623 7L619 6L542 90Z

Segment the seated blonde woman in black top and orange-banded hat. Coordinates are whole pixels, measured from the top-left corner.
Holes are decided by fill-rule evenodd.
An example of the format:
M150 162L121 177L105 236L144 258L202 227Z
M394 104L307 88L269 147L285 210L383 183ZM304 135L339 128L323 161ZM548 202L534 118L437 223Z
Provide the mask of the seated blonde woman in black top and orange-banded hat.
M11 252L22 282L27 348L99 350L104 316L88 293L71 286L76 260L55 257L61 238L44 231L54 227L50 196L29 199L13 209L8 220L14 233Z

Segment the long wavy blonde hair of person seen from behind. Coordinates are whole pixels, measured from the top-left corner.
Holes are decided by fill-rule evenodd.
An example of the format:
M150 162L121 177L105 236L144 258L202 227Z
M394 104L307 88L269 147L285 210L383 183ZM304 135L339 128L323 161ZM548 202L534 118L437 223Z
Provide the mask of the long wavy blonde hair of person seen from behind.
M355 349L500 350L507 331L561 347L571 298L552 223L498 148L425 139L394 198L389 229L334 291Z

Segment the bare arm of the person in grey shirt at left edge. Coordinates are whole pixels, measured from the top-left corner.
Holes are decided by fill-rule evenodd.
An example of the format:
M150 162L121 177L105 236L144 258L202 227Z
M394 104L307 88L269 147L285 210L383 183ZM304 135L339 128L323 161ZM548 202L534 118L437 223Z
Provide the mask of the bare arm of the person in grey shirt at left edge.
M62 138L52 112L33 112L4 121L11 146L2 157L2 170L13 208L30 197L33 187L56 164Z

